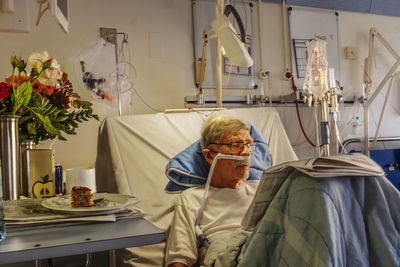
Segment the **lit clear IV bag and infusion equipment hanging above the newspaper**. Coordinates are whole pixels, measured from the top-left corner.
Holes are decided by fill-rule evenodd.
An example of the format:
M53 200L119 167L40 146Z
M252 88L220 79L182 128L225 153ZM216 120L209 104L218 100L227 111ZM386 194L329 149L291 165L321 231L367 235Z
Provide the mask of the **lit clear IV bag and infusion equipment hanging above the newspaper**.
M337 120L339 112L338 95L340 92L335 80L334 69L328 69L326 42L318 37L308 41L307 52L307 70L303 85L304 102L309 107L312 107L314 104L315 107L320 109L321 146L324 156L329 156L329 116L331 117L332 129L336 137L335 154L339 151L338 143L340 140Z

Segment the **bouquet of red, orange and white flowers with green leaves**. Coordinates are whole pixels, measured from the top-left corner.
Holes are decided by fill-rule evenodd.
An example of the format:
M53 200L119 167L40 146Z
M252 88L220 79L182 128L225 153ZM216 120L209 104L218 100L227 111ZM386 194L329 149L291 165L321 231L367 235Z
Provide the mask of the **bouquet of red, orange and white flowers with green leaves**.
M28 62L12 56L10 63L11 76L0 83L0 115L20 116L20 141L66 140L63 133L76 134L79 123L98 120L92 104L80 99L67 74L46 51L31 54Z

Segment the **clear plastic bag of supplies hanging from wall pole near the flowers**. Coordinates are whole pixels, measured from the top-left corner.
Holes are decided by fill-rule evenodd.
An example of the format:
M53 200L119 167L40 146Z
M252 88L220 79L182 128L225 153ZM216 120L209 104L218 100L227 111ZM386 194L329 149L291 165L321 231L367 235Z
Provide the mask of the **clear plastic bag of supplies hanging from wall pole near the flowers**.
M131 89L136 70L125 60L124 45L128 42L125 33L112 33L115 44L100 38L75 57L76 74L80 84L87 88L94 99L118 108L122 115L123 102L130 105ZM118 35L122 35L121 46ZM106 37L106 36L105 36ZM132 74L133 73L133 74Z

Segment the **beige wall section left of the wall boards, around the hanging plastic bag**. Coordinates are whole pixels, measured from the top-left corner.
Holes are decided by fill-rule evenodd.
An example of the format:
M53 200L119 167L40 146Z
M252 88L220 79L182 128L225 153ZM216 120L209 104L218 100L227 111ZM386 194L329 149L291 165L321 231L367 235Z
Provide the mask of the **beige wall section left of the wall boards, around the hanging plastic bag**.
M183 97L195 94L191 1L70 0L69 34L61 30L49 11L35 26L38 4L36 0L28 2L29 33L0 32L1 80L11 75L12 54L27 59L34 51L47 50L69 74L81 97L94 103L100 122L116 116L116 108L93 100L89 91L79 86L72 59L98 40L100 27L109 27L128 35L131 63L137 71L135 88L147 104L160 111L182 108ZM158 36L160 43L150 44L151 34ZM151 45L153 51L150 51ZM156 112L136 95L132 102L132 113ZM64 168L94 167L100 122L85 122L78 128L77 135L66 136L67 142L56 141L53 145L56 161ZM44 142L39 147L50 144Z

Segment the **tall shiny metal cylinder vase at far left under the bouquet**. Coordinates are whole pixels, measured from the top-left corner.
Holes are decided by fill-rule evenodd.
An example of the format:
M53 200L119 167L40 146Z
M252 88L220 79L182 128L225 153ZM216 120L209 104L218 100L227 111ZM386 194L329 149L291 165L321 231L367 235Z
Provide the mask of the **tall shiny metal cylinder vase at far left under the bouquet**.
M0 159L3 199L16 200L20 195L19 116L0 115Z

